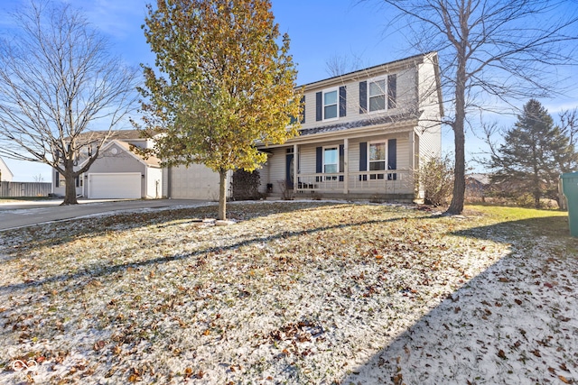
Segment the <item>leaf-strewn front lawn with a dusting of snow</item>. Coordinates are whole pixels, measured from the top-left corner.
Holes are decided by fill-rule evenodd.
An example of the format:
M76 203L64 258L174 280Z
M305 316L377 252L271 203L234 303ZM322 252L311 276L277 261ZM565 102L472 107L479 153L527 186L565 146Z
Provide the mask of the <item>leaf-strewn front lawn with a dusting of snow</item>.
M578 382L566 234L482 208L215 211L0 233L0 383Z

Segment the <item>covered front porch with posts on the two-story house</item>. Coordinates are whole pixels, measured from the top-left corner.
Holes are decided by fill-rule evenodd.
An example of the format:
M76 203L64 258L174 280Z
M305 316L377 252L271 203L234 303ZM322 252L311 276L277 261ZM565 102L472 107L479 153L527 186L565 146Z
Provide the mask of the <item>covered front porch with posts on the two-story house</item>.
M415 199L413 130L308 139L272 151L266 170L270 196Z

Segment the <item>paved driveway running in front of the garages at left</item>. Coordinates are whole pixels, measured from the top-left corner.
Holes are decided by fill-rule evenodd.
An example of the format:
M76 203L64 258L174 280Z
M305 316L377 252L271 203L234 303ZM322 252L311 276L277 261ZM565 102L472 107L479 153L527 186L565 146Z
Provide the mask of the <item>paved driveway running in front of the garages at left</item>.
M61 200L0 203L0 232L18 227L62 221L86 215L105 215L118 211L137 211L164 207L210 205L192 199L79 200L79 205L60 206Z

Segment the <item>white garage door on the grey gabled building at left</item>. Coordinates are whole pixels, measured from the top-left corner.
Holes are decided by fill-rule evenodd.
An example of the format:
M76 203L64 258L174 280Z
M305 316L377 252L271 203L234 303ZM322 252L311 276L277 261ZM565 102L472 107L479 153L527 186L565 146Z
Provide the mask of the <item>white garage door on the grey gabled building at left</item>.
M89 174L89 198L140 198L140 172Z

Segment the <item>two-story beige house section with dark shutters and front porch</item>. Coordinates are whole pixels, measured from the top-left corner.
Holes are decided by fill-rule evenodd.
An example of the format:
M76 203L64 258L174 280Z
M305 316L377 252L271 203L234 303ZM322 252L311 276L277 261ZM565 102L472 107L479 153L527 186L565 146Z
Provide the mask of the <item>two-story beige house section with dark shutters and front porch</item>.
M269 152L261 192L413 200L414 170L442 151L436 52L304 86L300 136Z

